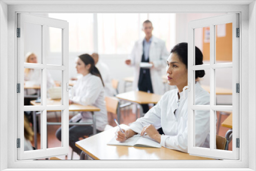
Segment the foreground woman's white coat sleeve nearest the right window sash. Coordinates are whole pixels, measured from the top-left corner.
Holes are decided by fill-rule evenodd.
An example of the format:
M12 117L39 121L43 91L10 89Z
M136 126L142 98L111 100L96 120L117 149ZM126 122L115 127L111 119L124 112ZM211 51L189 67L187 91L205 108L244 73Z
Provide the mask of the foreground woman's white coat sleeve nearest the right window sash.
M196 98L196 104L198 105L209 105L209 96L200 97L199 99ZM207 135L209 134L209 124L210 124L210 115L209 111L196 111L195 114L195 126L196 126L196 146L203 146ZM181 123L187 122L183 120ZM187 123L186 123L187 125ZM182 127L182 125L179 125ZM187 126L183 132L178 132L178 135L169 136L169 135L162 135L161 136L161 145L164 147L168 147L170 149L176 149L182 152L187 153Z

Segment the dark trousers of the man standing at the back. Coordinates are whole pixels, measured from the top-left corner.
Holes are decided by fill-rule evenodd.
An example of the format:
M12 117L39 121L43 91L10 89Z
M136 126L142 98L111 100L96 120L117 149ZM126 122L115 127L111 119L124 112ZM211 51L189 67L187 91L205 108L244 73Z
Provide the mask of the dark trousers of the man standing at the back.
M140 72L140 74L143 74L143 73ZM143 91L143 92L150 91L151 93L153 93L150 74L144 73L143 76L140 76L138 88L139 88L139 91ZM150 108L148 107L148 104L142 104L142 109L143 109L143 113L147 113L147 111L150 110Z

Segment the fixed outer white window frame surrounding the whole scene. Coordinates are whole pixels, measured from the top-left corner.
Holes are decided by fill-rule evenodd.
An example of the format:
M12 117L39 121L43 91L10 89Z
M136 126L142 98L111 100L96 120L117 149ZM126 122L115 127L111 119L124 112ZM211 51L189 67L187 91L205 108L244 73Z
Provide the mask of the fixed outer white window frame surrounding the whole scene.
M256 90L255 90L255 82L256 82L256 70L255 70L255 25L256 25L256 6L254 1L222 1L222 2L210 2L211 5L200 5L198 1L192 2L189 1L190 5L186 5L187 2L178 2L178 1L172 1L166 3L166 2L157 2L157 1L151 1L151 2L144 2L144 3L150 3L150 4L143 4L143 2L140 2L141 5L138 4L138 2L128 2L129 5L122 5L118 4L120 2L116 2L116 4L113 5L113 2L101 2L102 4L98 5L90 5L90 2L87 5L58 5L58 6L52 6L52 5L10 5L8 6L8 12L7 12L7 5L5 3L17 3L22 4L26 3L25 1L18 1L18 2L9 2L4 1L0 2L1 8L0 12L1 14L1 27L3 29L0 30L1 34L1 42L0 45L1 48L1 62L5 65L8 65L8 69L6 68L0 68L1 69L1 81L8 81L8 84L5 82L1 82L0 91L5 96L1 96L1 100L4 101L8 99L8 107L4 106L4 104L1 101L1 169L10 168L8 170L18 170L18 169L12 169L12 168L32 168L33 169L36 166L40 168L48 168L47 170L56 170L56 168L62 167L66 168L66 170L69 170L67 168L71 168L71 164L73 165L73 168L83 168L86 170L86 168L98 168L98 170L102 170L100 168L110 168L109 170L113 170L111 168L132 168L136 166L137 168L144 170L143 168L149 167L149 168L169 168L171 170L172 168L179 168L182 167L184 170L198 170L198 168L203 168L203 170L212 170L207 169L208 167L216 168L216 170L220 170L220 168L238 168L238 170L255 170L255 112L256 112ZM32 2L30 2L32 3ZM50 3L47 1L44 1L45 4ZM51 3L54 3L54 1L51 1ZM55 2L56 3L56 2ZM72 2L70 2L72 3ZM76 3L76 1L74 1ZM91 2L92 3L92 2ZM111 5L112 3L112 5ZM154 3L158 4L155 5ZM206 3L207 2L202 2ZM209 3L209 4L210 4ZM221 4L218 4L221 3ZM236 5L230 5L230 3L237 3ZM240 4L239 4L240 3ZM250 4L251 3L251 4ZM105 4L108 4L108 7L106 8ZM180 4L180 5L177 5ZM193 4L193 5L191 5ZM224 4L224 5L223 5ZM226 4L226 5L225 5ZM16 160L16 141L15 137L16 134L13 134L15 132L15 125L16 123L16 103L14 102L16 98L15 93L15 72L17 64L15 62L16 60L16 41L15 41L15 22L16 18L15 15L17 12L72 12L72 11L83 11L83 12L175 12L175 13L198 13L198 12L206 12L207 13L224 13L224 12L239 12L240 13L240 28L242 30L241 34L243 35L243 39L240 40L240 65L242 67L240 78L241 82L243 83L243 86L241 86L243 94L241 94L241 115L243 115L243 118L240 116L240 160L238 161L232 161L232 160L225 160L225 161L85 161L85 162L79 162L79 161L17 161ZM249 14L248 14L249 11ZM242 15L241 15L242 14ZM8 16L8 28L7 28L7 16ZM3 25L2 25L3 23ZM8 30L8 31L7 31ZM8 32L8 38L6 36L3 36L4 39L2 39L2 35L6 34ZM248 34L250 35L250 38L248 37ZM8 45L3 44L3 42L7 42ZM8 48L8 62L4 61L6 59L6 56L2 56L2 54L7 54ZM244 60L241 62L241 60ZM1 63L1 67L4 65ZM248 69L250 68L250 70ZM4 71L4 73L3 73ZM250 71L250 72L249 72ZM6 73L8 72L8 76ZM8 78L7 78L8 77ZM250 77L250 79L248 79ZM3 83L3 84L2 84ZM249 84L250 83L250 84ZM8 93L5 93L8 85ZM250 88L250 94L248 93L248 88ZM250 99L250 100L249 100ZM249 105L248 105L249 104ZM251 105L250 105L251 104ZM8 109L8 110L7 110ZM8 116L6 116L6 113L2 112L8 112ZM8 124L5 123L6 120L8 120ZM15 122L13 122L15 121ZM2 126L3 125L3 126ZM8 128L6 131L6 127ZM250 137L248 136L248 130L253 130L254 133L251 133ZM250 150L249 150L250 149ZM8 156L8 157L6 157ZM241 160L242 159L242 160ZM218 162L218 164L217 164ZM5 164L7 163L7 164ZM47 163L47 164L46 164ZM100 163L100 165L99 165ZM51 169L50 169L51 168ZM189 169L190 168L190 169ZM197 168L197 169L193 169ZM28 169L26 169L28 170ZM70 169L72 170L72 168ZM228 170L228 169L221 169L221 170Z

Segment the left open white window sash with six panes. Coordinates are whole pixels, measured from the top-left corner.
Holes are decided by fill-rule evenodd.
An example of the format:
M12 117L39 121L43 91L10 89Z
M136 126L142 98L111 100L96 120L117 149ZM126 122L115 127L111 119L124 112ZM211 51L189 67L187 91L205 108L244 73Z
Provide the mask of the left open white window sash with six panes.
M42 28L41 63L25 63L24 42L25 23L35 24ZM69 153L69 24L64 20L34 15L17 14L17 27L20 28L20 37L17 38L17 83L20 83L20 93L17 94L17 138L20 139L20 148L17 149L17 159L41 159ZM46 60L46 47L49 41L48 27L61 29L61 65L49 65ZM41 70L41 104L24 106L24 68ZM61 71L61 104L47 105L47 70ZM61 110L61 146L47 148L47 111ZM41 148L34 151L24 151L24 111L40 111L41 120ZM35 133L36 134L36 133Z

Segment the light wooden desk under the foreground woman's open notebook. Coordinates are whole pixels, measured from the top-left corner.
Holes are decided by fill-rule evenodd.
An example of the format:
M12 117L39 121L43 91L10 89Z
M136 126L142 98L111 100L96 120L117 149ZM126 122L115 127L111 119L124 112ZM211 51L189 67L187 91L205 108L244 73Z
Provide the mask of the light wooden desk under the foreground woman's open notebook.
M122 128L129 126L121 124ZM95 160L213 160L190 156L165 147L129 147L106 145L114 136L117 127L76 142L76 146Z

